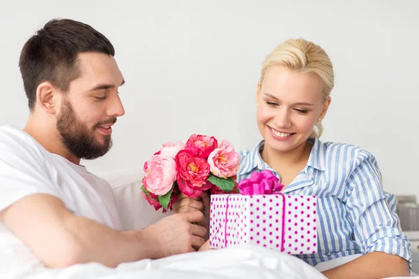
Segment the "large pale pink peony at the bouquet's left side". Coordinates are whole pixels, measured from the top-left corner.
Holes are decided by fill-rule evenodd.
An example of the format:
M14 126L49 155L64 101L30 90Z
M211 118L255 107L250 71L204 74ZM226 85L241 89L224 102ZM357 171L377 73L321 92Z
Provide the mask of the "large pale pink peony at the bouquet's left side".
M157 154L145 164L145 176L142 179L145 188L155 195L165 195L172 188L176 179L176 162L173 158Z

